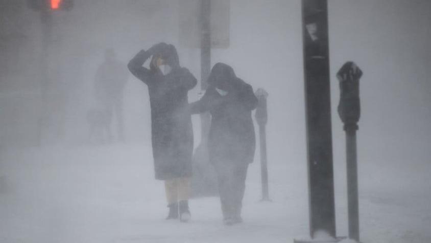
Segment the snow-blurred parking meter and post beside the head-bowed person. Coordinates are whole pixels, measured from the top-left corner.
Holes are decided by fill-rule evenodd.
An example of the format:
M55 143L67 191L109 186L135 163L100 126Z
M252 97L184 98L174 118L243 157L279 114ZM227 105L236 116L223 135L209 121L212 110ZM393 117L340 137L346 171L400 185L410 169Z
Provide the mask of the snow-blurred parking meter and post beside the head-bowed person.
M267 110L267 97L268 93L264 89L258 89L255 93L259 100L255 118L259 125L259 143L260 143L260 174L262 180L262 201L271 201L269 198L269 186L268 186L268 161L267 161L267 122L268 122L268 110Z

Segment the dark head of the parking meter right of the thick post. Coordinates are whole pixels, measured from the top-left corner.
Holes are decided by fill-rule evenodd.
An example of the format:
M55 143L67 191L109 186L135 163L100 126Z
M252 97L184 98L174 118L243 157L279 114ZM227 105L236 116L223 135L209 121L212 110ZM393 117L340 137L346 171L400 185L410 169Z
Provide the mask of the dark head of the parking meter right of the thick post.
M357 130L357 122L361 117L361 103L359 98L359 79L362 71L352 62L346 62L337 73L340 81L340 103L338 114L344 122L344 130Z

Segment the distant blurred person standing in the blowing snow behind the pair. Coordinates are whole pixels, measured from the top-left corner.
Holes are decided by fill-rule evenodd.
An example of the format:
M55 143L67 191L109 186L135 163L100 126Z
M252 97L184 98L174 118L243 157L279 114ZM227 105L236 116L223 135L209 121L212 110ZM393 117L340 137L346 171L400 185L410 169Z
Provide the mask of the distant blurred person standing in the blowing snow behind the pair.
M125 64L116 58L113 49L105 51L105 60L100 65L95 81L94 95L98 102L100 113L107 114L105 119L111 137L112 117L117 122L118 140L124 141L123 91L128 79ZM102 118L100 118L102 119Z

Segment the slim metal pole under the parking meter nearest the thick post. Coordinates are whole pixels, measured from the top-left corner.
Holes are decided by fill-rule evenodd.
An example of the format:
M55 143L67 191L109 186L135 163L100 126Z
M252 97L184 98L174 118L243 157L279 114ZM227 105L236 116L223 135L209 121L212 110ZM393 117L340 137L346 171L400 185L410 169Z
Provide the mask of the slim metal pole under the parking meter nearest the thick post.
M347 201L349 210L349 237L359 242L359 207L357 186L356 130L346 130Z

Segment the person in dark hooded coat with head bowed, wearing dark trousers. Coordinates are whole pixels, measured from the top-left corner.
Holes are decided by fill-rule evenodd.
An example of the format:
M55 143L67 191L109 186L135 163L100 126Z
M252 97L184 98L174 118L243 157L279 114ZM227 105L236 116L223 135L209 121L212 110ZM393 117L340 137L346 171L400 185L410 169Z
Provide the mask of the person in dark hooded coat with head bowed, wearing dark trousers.
M224 223L241 223L247 168L255 150L251 111L257 98L250 84L237 78L233 69L217 63L208 78L203 97L190 104L192 114L209 112L209 161L217 172Z

